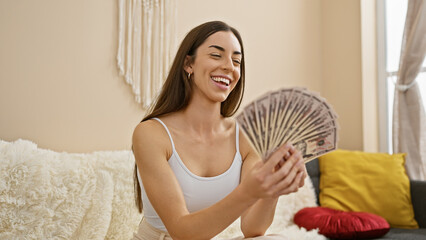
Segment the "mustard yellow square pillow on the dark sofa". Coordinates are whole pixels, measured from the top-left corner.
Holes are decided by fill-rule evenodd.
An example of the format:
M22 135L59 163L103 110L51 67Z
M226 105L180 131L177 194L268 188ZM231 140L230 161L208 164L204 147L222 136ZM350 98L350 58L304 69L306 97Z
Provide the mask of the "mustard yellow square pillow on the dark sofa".
M404 156L336 150L320 157L320 205L373 213L395 228L418 228Z

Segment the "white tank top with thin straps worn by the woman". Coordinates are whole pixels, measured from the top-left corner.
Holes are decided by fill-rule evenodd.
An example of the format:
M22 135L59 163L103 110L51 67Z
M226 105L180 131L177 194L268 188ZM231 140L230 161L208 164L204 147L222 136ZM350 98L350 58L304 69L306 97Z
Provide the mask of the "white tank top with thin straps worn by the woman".
M214 177L200 177L192 173L182 162L179 154L176 152L173 143L172 135L167 126L158 118L153 118L160 122L169 135L172 144L173 153L170 156L168 163L173 170L176 178L182 188L185 198L186 207L189 212L195 212L203 208L209 207L214 203L222 200L231 193L240 183L242 158L239 150L238 140L238 123L235 122L236 132L236 153L231 167L224 173ZM213 150L214 151L214 150ZM137 171L139 183L142 183L139 171ZM143 184L140 184L142 192L143 214L146 221L153 227L162 231L167 231L158 214L152 207L146 195Z

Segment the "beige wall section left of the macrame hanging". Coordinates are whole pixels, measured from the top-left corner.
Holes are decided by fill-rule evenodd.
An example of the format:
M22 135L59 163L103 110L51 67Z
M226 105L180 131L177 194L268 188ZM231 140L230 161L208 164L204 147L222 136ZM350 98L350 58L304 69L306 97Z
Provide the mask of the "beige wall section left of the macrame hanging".
M117 75L114 0L0 1L0 138L130 149L142 117Z

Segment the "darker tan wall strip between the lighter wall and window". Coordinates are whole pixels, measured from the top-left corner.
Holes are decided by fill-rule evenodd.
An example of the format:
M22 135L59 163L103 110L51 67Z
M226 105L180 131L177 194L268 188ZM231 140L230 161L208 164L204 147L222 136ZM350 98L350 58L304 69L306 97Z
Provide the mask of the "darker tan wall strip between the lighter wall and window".
M360 2L323 0L321 14L322 94L339 115L339 147L361 150L363 133Z

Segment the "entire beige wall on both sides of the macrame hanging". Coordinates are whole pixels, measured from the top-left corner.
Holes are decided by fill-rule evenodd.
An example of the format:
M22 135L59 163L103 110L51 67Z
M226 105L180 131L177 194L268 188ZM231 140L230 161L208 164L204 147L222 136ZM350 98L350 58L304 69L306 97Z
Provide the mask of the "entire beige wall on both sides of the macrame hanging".
M0 1L0 139L56 151L129 149L143 111L118 76L117 2ZM207 20L243 36L243 104L281 87L335 106L340 147L362 149L360 7L352 1L178 0L178 41Z

